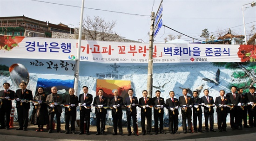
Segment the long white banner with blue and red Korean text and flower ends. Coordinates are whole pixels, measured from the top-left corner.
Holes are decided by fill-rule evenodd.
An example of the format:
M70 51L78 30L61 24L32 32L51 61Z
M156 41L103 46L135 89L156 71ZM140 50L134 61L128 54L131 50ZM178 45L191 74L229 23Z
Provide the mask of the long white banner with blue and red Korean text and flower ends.
M0 58L75 60L78 40L0 36ZM80 61L148 63L148 43L81 41ZM154 44L154 63L255 62L256 45Z

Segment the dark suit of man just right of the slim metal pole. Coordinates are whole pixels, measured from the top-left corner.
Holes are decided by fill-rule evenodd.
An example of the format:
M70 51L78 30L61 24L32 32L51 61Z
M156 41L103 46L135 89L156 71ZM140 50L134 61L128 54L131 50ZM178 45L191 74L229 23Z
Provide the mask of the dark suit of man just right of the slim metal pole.
M91 105L93 103L93 95L87 94L84 99L84 94L79 95L79 103L86 105ZM84 106L81 106L80 108L80 132L88 133L90 132L90 115L92 112L92 109L86 109ZM85 122L85 123L84 123ZM85 124L85 131L84 131L84 124Z

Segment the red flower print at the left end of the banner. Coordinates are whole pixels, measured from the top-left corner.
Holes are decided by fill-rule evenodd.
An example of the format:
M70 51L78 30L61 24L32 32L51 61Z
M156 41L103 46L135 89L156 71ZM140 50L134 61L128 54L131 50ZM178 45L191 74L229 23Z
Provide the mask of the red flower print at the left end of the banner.
M23 40L21 36L0 36L0 50L10 51Z

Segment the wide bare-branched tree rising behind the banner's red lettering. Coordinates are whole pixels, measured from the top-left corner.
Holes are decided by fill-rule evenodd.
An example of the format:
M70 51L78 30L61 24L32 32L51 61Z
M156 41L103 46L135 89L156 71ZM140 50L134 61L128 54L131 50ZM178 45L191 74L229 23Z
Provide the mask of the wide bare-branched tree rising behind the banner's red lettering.
M85 39L88 40L100 40L100 41L117 41L120 36L113 31L116 25L116 21L105 21L99 16L94 16L91 19L87 16L87 19L83 20L82 30L85 33Z

